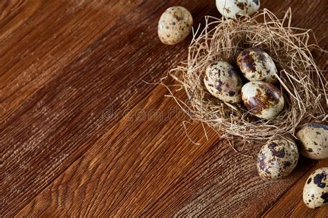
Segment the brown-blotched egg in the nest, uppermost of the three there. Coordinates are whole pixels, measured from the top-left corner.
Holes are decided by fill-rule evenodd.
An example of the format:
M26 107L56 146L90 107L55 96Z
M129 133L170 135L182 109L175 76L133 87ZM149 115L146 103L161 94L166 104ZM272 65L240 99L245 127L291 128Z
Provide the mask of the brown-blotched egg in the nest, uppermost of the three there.
M277 81L275 63L263 50L258 48L243 50L237 57L237 65L249 81L265 81L267 83Z

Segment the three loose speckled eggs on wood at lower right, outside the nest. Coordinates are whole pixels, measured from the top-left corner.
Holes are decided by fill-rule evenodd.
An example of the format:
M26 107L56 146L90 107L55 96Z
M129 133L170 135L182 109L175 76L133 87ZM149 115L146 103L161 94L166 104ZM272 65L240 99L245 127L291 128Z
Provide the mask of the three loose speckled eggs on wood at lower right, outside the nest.
M309 159L328 158L328 126L309 123L298 132L298 146L293 139L269 141L257 156L257 171L263 179L279 179L289 175L298 163L299 152ZM328 168L311 173L303 188L303 201L309 208L328 205Z

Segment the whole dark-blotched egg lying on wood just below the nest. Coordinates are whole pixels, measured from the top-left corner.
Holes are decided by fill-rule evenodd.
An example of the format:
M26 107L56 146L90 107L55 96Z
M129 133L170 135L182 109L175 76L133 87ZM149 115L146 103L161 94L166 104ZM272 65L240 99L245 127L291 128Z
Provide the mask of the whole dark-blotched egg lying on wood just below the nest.
M263 179L289 175L298 164L298 147L293 141L279 138L269 141L257 157L257 172Z

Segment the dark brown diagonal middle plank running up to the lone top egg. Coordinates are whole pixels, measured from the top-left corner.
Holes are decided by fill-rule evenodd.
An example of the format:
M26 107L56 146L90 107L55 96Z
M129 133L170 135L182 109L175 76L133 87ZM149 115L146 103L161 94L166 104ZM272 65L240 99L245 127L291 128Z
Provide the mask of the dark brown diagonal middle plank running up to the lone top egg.
M109 25L101 37L57 70L44 86L1 122L1 173L5 175L1 210L18 210L10 206L15 202L23 207L24 202L33 199L81 157L102 135L104 127L110 128L116 123L102 119L104 111L108 108L113 112L123 111L134 106L152 90L152 86L145 86L141 80L152 81L153 77L163 76L179 61L174 58L179 50L182 52L181 48L187 47L187 41L170 51L160 41L149 43L157 37L152 31L156 26L152 17L158 17L165 10L165 1L119 2L118 5L126 9L125 14L116 13L114 17L122 17L116 19L114 25ZM106 12L97 17L98 22L104 17L110 19L112 12ZM150 25L153 28L149 28ZM180 55L186 57L186 54ZM152 57L156 57L156 62ZM136 92L138 95L131 99ZM15 96L10 98L15 101Z

